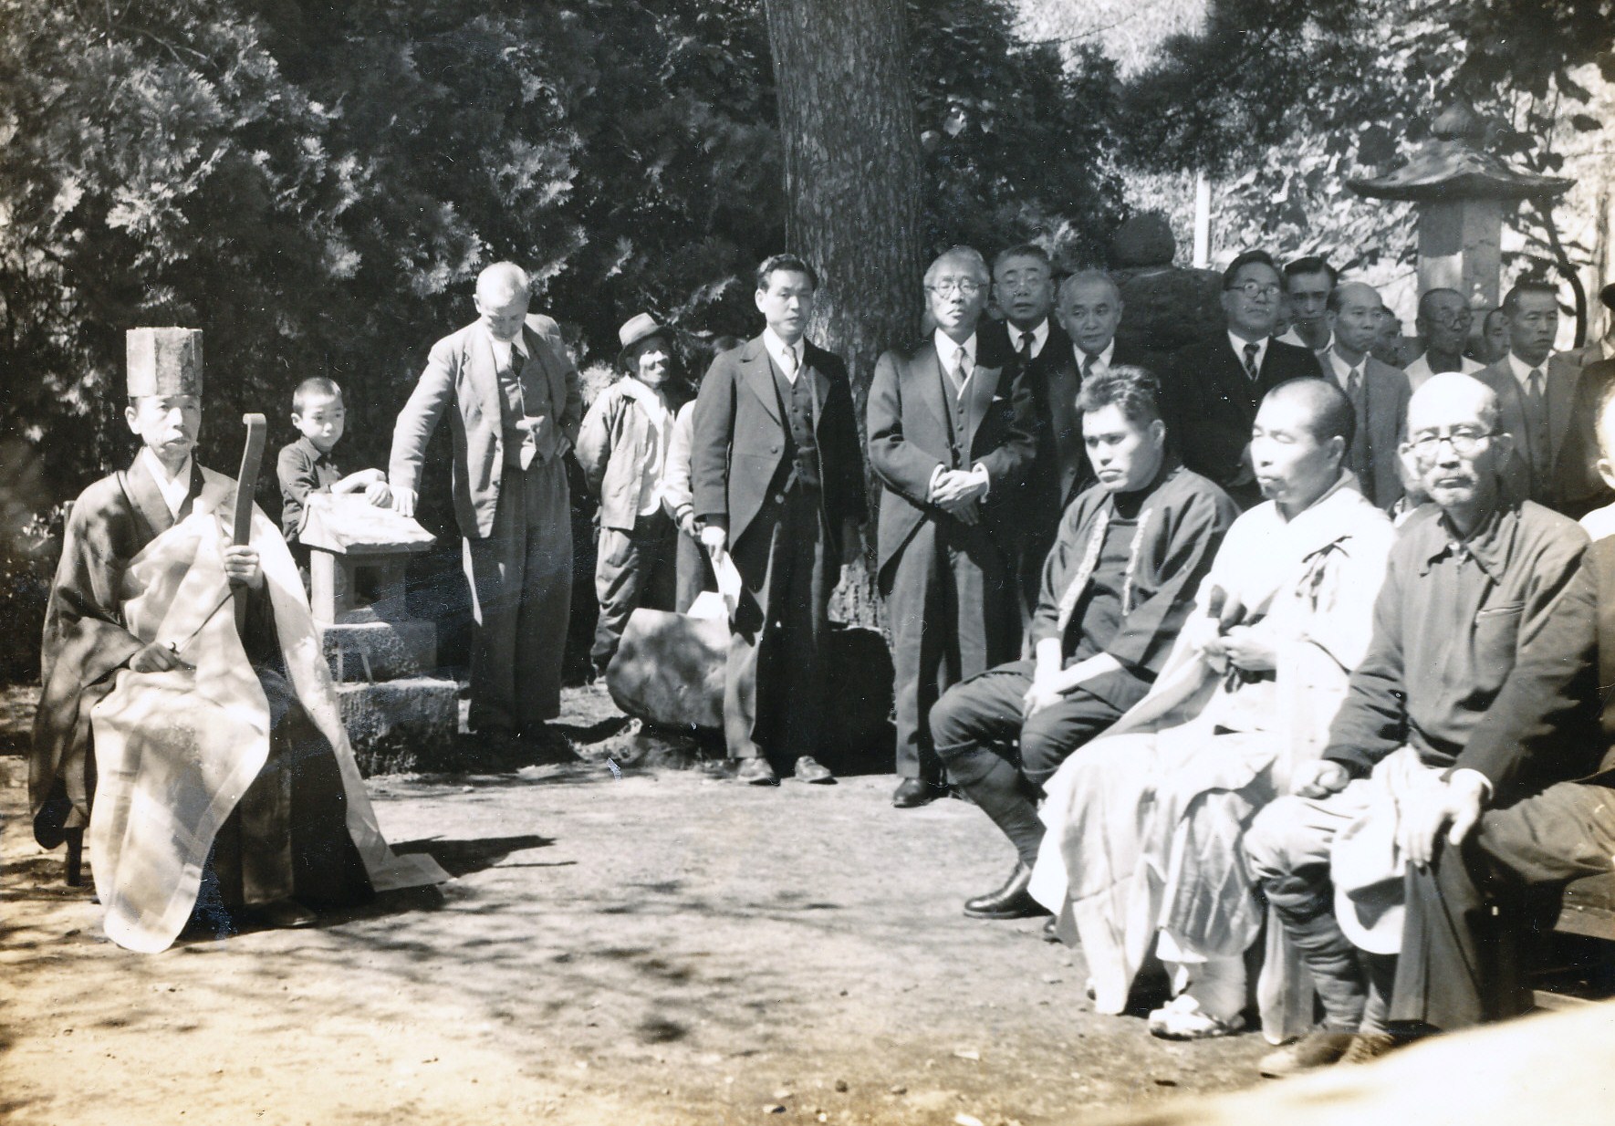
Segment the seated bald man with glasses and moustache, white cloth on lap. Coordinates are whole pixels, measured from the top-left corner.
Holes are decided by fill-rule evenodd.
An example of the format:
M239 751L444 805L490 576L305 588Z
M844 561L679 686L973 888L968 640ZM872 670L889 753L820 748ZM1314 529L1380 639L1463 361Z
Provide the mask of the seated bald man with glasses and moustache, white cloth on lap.
M1391 551L1374 637L1323 758L1245 834L1250 872L1324 1010L1265 1074L1395 1045L1405 869L1429 861L1441 830L1466 830L1483 800L1529 790L1512 754L1515 669L1588 544L1573 522L1504 488L1513 436L1473 376L1442 373L1413 394L1408 446L1434 504Z

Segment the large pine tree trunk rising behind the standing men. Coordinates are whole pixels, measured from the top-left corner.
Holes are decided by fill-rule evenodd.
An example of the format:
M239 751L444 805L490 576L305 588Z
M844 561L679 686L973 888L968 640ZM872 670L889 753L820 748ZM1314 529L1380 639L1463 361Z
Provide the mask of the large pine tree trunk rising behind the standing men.
M766 8L787 244L822 273L809 334L846 359L862 426L875 360L906 344L921 318L921 152L904 3L767 0ZM866 541L872 536L874 520ZM879 624L872 567L848 570L832 611Z

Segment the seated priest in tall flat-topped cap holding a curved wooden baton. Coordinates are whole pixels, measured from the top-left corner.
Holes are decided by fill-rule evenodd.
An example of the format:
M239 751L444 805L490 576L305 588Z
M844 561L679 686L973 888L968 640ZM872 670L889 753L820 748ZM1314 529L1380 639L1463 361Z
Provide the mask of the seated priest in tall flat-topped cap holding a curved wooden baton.
M87 827L107 935L137 952L179 935L205 869L224 908L278 926L312 921L308 903L447 879L381 837L284 540L254 509L249 543L229 544L236 485L191 457L200 334L129 336L126 417L144 446L68 517L34 722L36 838L53 848Z

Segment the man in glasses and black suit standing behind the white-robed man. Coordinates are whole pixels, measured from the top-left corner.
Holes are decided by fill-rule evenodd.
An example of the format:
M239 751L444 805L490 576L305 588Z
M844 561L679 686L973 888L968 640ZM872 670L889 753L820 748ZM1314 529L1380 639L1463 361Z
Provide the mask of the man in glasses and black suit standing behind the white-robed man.
M1266 250L1245 250L1223 271L1226 331L1177 351L1164 365L1166 428L1184 464L1221 485L1240 509L1261 502L1250 467L1250 428L1268 391L1321 376L1310 349L1273 336L1284 288Z

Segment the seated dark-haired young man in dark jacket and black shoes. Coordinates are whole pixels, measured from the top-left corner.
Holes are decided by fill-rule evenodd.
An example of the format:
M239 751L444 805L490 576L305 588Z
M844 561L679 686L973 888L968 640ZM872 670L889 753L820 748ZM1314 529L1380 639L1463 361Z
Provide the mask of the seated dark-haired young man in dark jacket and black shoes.
M1077 409L1098 485L1066 509L1043 564L1035 658L954 685L930 712L948 777L1016 848L1008 882L966 901L975 919L1047 914L1027 890L1043 840L1038 788L1150 690L1239 515L1168 454L1158 383L1143 368L1093 376Z

